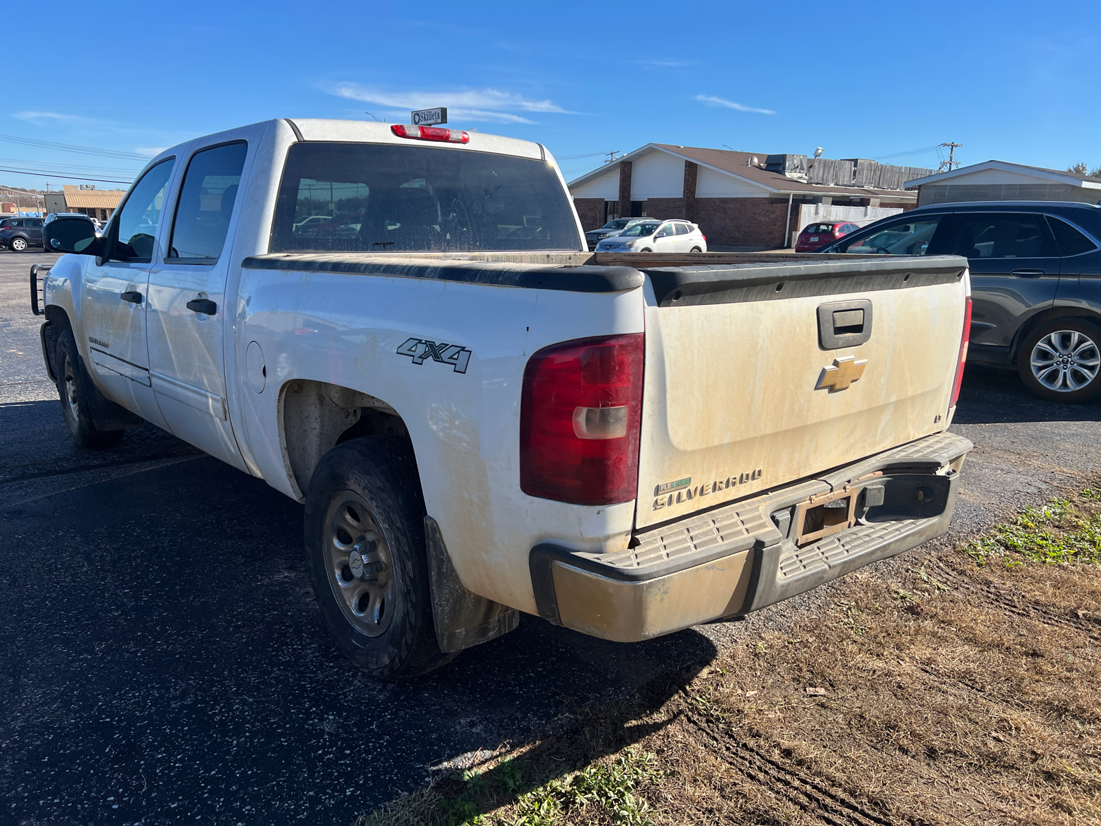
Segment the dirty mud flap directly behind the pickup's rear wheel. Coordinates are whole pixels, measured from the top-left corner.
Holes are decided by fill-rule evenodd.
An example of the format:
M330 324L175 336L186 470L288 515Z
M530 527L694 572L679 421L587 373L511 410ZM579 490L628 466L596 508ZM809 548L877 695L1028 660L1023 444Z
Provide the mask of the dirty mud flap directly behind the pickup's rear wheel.
M424 539L428 551L432 616L440 651L451 653L489 642L520 623L520 611L515 608L479 597L462 587L439 524L432 517L424 518Z

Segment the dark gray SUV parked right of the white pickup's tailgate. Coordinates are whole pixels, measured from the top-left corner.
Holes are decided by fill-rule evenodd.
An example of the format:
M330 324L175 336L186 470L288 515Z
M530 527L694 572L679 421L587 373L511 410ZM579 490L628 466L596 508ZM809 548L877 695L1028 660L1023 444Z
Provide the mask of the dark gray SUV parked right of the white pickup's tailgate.
M963 256L971 271L968 361L1015 367L1045 399L1083 402L1101 393L1101 206L936 204L821 252Z

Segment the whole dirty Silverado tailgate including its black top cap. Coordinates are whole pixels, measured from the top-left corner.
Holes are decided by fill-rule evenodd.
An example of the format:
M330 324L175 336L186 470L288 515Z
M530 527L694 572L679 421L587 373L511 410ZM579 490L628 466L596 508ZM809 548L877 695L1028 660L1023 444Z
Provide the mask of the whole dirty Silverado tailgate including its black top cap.
M636 528L947 426L966 259L643 271L654 298Z

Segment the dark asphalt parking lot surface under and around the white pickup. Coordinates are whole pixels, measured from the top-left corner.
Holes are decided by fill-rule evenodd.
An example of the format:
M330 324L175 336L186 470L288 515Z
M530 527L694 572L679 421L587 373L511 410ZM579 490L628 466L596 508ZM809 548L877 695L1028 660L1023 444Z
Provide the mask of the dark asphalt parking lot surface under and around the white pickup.
M375 683L321 626L297 503L151 425L72 446L28 302L52 260L0 252L0 824L347 824L828 599L632 645L524 617L423 681ZM977 449L940 542L1084 483L1099 419L969 369L952 430Z

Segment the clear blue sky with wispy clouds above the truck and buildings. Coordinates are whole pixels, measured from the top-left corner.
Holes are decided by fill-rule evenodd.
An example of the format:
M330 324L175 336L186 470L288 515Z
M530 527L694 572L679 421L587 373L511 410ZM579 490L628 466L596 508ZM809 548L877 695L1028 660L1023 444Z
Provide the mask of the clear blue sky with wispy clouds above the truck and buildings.
M544 143L567 178L651 141L933 167L929 148L956 141L963 163L1101 165L1094 0L83 0L34 14L0 135L140 154L274 117L407 122L447 106L453 127ZM141 165L0 139L0 167L55 171L2 184Z

